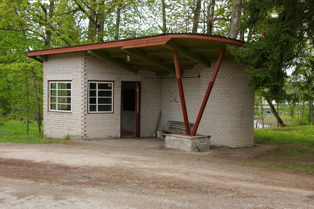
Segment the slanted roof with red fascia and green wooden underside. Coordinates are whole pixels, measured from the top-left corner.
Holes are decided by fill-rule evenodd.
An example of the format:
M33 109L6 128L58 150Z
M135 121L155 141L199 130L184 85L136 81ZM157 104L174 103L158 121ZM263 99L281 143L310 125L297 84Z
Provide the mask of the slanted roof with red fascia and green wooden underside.
M192 69L195 64L210 67L217 61L221 49L227 45L243 46L243 42L222 36L203 34L163 34L123 41L111 41L73 47L32 51L30 58L47 61L47 55L87 52L92 56L114 63L128 71L150 70L158 75L175 72L172 51L178 52L180 69ZM127 61L130 54L131 60ZM234 60L229 51L224 60Z

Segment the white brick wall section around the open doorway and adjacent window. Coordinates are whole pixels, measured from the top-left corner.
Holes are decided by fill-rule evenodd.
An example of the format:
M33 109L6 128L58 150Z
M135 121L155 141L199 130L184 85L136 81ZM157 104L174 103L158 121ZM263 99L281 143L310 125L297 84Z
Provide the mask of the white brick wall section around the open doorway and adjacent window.
M153 136L161 108L159 99L161 90L158 89L161 87L161 84L158 84L158 79L156 80L158 77L155 73L151 71L141 71L138 74L134 74L87 54L84 58L84 69L86 73L86 78L84 78L85 83L87 83L88 80L95 80L88 79L88 77L100 78L100 80L109 79L114 81L115 91L114 113L87 114L87 111L84 113L84 138L97 139L120 137L121 81L141 82L140 136ZM93 74L93 76L89 76L90 74ZM154 79L151 80L147 78ZM87 101L87 86L85 91L86 98L84 100Z

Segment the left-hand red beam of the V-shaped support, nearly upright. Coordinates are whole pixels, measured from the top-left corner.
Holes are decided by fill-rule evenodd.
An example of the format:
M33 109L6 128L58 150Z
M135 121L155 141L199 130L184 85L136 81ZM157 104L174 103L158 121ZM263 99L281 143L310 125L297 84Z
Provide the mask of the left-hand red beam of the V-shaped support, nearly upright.
M187 106L185 105L185 98L184 98L183 85L182 85L182 79L181 79L178 52L176 50L173 50L172 54L173 54L173 60L175 62L176 77L177 77L177 82L178 82L178 87L179 87L180 100L181 100L181 106L182 106L182 112L183 112L183 119L184 119L184 124L185 124L185 131L186 131L187 135L191 135L190 126L189 126L189 119L187 118Z

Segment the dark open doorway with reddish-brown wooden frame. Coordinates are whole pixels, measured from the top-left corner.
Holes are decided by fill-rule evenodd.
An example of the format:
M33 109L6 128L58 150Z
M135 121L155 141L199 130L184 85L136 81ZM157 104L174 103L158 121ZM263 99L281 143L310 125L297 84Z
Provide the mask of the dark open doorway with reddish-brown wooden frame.
M139 137L139 82L121 83L121 138Z

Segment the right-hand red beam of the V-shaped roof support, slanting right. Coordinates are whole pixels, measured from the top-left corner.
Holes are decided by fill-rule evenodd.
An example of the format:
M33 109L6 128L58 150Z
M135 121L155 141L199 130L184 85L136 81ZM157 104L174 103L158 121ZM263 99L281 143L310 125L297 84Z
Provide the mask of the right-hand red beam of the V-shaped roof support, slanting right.
M219 68L220 68L220 64L222 62L222 58L225 55L225 52L226 52L225 49L221 49L221 51L220 51L220 54L219 54L219 57L218 57L218 60L217 60L214 72L212 74L212 78L209 81L208 88L207 88L206 94L204 96L204 100L203 100L201 109L199 110L199 113L198 113L198 116L196 118L196 122L195 122L194 128L192 130L192 134L191 134L192 136L196 135L196 131L198 129L199 123L201 122L201 119L202 119L202 116L203 116L203 113L204 113L204 110L205 110L205 107L206 107L206 104L207 104L210 92L212 91L215 79L217 77L217 74L218 74L218 71L219 71Z

